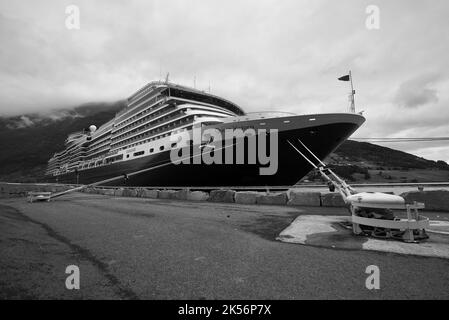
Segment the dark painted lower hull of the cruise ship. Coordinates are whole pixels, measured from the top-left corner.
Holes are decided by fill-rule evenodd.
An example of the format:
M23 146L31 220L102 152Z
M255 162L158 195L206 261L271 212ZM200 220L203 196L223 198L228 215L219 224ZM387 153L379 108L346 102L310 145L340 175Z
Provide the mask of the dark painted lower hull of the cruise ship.
M351 118L349 117L349 119ZM290 140L299 150L307 154L297 141L297 138L300 138L315 155L324 159L357 130L363 121L363 118L356 118L355 120L351 119L351 121L343 120L336 123L280 131L278 136L278 169L274 175L260 175L260 165L257 164L175 165L170 162L170 151L166 151L109 166L80 171L78 178L75 173L61 175L57 180L52 178L51 182L91 184L154 167L153 170L130 175L127 180L120 178L104 185L161 187L294 185L312 169L312 166L288 144L287 140ZM166 165L160 166L161 164Z

